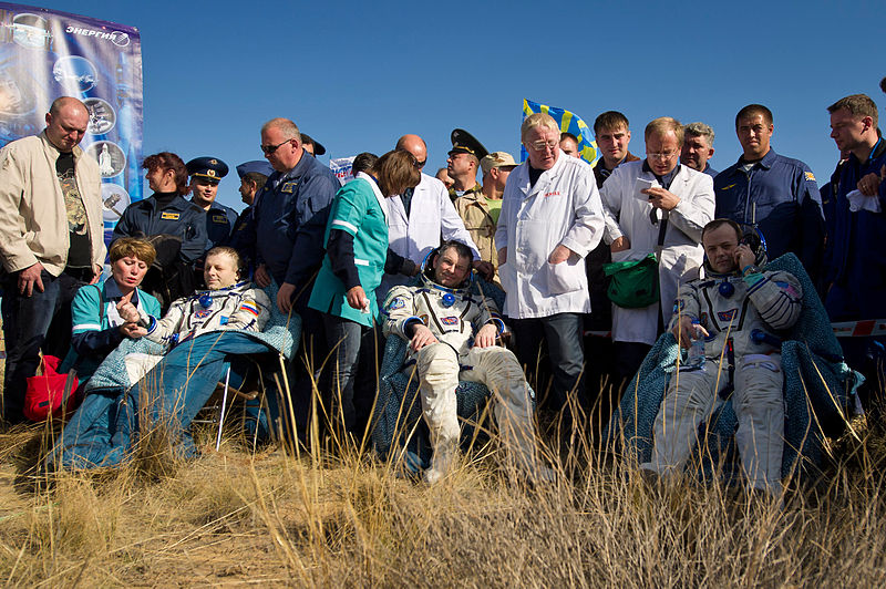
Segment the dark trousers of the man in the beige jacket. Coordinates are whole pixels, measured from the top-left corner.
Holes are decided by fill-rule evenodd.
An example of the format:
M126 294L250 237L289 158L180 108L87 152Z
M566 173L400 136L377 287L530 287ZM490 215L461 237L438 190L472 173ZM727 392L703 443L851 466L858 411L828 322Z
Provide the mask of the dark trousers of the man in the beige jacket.
M7 348L3 379L3 418L24 421L27 378L40 364L40 351L64 358L71 345L71 301L86 283L82 276L62 272L53 277L43 270L43 292L19 294L19 272L6 275L3 285L3 338Z

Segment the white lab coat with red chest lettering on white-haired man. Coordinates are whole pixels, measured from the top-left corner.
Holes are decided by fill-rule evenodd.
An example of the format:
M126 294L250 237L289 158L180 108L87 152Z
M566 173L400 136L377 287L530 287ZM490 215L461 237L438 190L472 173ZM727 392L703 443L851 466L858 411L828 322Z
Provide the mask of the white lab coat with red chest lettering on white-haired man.
M515 319L590 312L585 256L600 242L604 214L590 165L559 153L557 162L529 187L524 162L507 178L495 246L507 248L498 267L507 292L505 313ZM553 266L558 245L575 251Z

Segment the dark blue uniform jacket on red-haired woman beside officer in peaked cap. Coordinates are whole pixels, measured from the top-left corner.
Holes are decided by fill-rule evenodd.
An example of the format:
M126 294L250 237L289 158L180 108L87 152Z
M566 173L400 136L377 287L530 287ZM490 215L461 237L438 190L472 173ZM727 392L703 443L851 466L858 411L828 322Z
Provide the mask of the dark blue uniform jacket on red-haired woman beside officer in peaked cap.
M162 210L156 208L153 195L127 206L114 227L114 239L173 235L182 238L178 251L182 261L190 264L203 256L206 250L206 211L181 196Z

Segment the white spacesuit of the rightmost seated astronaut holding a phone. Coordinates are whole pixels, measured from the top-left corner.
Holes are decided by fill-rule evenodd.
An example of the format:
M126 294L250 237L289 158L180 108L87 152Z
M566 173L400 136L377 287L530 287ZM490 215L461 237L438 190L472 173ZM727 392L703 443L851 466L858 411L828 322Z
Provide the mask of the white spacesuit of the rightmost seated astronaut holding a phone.
M643 468L664 476L681 473L699 424L721 402L718 393L734 386L735 441L748 484L781 492L784 378L774 334L796 322L802 297L793 275L755 267L743 277L712 273L680 288L670 329L681 318L698 319L710 334L705 360L701 368L681 365L671 376L656 417L652 459Z

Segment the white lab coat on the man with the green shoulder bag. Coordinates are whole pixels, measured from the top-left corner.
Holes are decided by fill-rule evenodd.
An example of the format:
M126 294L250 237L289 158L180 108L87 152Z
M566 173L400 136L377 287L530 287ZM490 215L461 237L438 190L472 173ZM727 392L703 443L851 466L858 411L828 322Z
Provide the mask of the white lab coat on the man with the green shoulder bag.
M625 236L630 249L612 254L612 261L639 260L649 254L659 259L660 302L642 309L624 309L612 306L612 340L653 344L658 335L658 316L668 324L677 298L677 289L688 278L688 271L701 266L704 250L701 247L701 230L713 218L713 180L707 174L689 166L680 166L670 192L680 197L680 203L668 214L668 229L662 247L658 246L659 225L649 217L652 205L638 192L637 178L651 180L661 186L651 172L643 172L643 161L628 162L618 166L600 188L606 209L606 235L611 244ZM657 211L660 219L662 211ZM693 272L691 272L692 275Z

